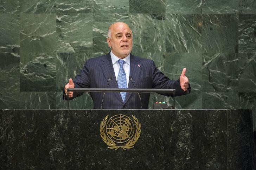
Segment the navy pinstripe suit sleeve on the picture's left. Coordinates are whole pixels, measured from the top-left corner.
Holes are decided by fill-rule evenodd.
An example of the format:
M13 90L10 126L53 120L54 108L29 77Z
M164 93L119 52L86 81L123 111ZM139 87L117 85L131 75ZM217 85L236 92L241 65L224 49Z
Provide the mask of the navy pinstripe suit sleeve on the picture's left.
M90 60L87 60L87 62L85 62L83 69L80 70L79 74L76 75L73 82L75 84L75 88L90 88L90 82L91 82ZM73 97L70 97L69 100L72 100L81 95L83 95L83 93L74 92ZM63 88L63 100L68 100L68 96L65 94L64 88Z

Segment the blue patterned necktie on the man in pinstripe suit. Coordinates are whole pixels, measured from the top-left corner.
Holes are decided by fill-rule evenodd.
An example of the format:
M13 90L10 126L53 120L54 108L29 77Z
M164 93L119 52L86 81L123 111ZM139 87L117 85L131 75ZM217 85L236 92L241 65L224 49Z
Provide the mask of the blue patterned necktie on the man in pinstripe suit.
M118 60L117 62L120 64L120 69L119 69L119 73L117 76L117 85L118 85L118 88L120 88L120 89L126 89L127 88L126 74L123 69L123 64L126 62L123 60ZM120 94L121 94L122 100L124 102L126 92L120 92Z

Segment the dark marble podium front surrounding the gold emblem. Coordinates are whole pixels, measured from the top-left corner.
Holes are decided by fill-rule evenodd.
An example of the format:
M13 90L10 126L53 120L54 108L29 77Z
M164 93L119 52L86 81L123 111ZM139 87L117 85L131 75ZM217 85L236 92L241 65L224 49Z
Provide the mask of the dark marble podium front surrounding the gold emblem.
M134 115L134 148L108 149L106 115ZM1 169L254 169L251 110L0 110Z

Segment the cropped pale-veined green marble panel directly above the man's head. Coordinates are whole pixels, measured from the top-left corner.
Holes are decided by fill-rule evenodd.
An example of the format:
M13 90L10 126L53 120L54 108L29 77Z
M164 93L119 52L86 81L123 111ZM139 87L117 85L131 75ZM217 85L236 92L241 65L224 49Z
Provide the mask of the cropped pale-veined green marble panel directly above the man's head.
M129 13L129 0L92 1L93 13Z

